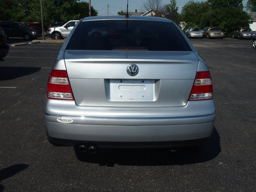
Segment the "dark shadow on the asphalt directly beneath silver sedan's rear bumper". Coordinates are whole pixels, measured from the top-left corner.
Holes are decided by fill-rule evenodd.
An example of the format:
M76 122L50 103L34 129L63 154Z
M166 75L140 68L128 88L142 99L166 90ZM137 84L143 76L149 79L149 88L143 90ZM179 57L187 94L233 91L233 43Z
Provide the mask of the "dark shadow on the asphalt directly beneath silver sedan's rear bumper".
M82 154L75 148L79 161L97 163L100 166L135 165L182 165L210 161L221 152L220 136L213 129L209 140L198 147L179 148L176 152L170 149L104 149L97 154Z

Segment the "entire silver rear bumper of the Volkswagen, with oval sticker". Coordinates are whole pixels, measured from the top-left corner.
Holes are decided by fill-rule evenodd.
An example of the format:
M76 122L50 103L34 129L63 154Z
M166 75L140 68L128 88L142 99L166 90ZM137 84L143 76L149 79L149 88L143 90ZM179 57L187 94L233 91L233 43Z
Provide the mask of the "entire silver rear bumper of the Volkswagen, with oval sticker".
M216 112L213 100L188 102L181 107L103 108L46 99L44 116L50 143L114 148L123 143L145 148L195 145L209 138Z

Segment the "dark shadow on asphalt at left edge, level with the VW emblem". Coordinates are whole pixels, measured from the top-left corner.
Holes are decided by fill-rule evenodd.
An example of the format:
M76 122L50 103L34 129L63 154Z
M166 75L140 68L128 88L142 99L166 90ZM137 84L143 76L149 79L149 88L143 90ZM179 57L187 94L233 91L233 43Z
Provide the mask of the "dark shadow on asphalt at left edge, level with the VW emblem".
M40 67L0 67L0 81L28 76L39 70Z

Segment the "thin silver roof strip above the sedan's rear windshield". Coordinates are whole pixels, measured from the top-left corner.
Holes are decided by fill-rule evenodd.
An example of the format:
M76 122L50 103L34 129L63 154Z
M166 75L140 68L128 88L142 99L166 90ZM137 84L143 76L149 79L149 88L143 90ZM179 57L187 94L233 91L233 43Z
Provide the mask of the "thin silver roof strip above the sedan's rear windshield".
M152 20L152 21L172 22L172 20L164 19L160 17L143 17L143 16L125 17L125 15L84 17L84 19L82 19L82 21L89 21L89 20Z

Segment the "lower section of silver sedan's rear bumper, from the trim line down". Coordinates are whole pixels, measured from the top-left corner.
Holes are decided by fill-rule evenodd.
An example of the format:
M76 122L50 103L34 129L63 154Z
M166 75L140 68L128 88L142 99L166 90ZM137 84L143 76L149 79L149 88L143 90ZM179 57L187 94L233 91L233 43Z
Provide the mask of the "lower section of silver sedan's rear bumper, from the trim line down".
M95 143L115 146L115 143L170 147L193 145L209 138L214 127L215 114L187 118L72 118L71 124L57 122L60 116L45 114L49 141L75 145ZM62 116L62 118L67 118ZM113 145L114 143L114 145ZM112 145L111 145L112 144ZM155 145L154 145L155 146Z

